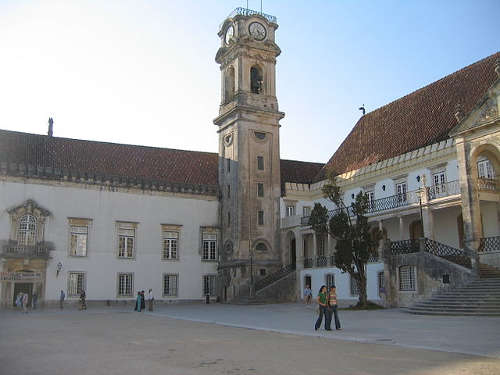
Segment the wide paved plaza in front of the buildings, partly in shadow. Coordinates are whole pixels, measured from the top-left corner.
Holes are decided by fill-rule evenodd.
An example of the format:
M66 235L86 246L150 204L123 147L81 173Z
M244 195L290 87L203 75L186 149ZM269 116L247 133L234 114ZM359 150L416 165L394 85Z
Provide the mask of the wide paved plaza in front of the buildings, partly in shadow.
M315 332L300 304L0 311L0 374L500 373L500 318L340 314Z

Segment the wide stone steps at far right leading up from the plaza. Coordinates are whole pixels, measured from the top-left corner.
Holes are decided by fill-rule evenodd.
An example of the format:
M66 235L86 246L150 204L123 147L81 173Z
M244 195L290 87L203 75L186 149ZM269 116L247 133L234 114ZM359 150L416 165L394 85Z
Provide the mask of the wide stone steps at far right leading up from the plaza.
M442 291L407 309L424 315L500 316L500 270L480 265L480 279Z

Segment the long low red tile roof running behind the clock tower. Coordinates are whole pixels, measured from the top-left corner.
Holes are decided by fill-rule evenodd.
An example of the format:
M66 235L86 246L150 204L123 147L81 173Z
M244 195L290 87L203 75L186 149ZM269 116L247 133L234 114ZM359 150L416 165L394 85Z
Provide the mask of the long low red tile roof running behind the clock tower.
M218 154L0 130L0 162L79 175L217 185ZM284 182L311 183L323 164L281 161ZM64 173L63 173L64 174Z

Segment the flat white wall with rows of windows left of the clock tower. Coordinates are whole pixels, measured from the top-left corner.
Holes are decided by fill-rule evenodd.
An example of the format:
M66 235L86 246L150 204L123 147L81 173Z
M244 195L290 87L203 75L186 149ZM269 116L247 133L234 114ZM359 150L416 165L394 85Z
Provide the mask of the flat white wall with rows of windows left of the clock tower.
M200 299L203 274L217 272L216 263L202 262L199 254L200 226L218 225L216 200L0 182L0 239L9 238L7 209L28 199L52 214L45 226L45 240L56 247L47 267L47 300L56 300L61 289L66 291L68 271L86 272L91 300L117 298L118 272L133 272L134 291L153 288L157 299L162 299L163 273L177 273L178 299ZM93 220L87 257L68 255L69 217ZM117 257L116 221L138 223L135 260ZM182 225L178 261L161 259L161 224ZM56 277L58 262L63 269Z

